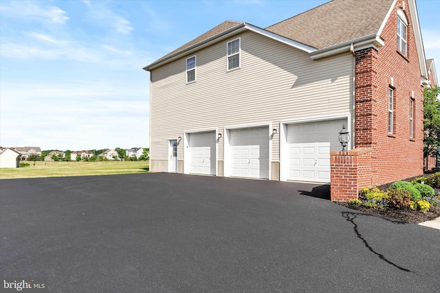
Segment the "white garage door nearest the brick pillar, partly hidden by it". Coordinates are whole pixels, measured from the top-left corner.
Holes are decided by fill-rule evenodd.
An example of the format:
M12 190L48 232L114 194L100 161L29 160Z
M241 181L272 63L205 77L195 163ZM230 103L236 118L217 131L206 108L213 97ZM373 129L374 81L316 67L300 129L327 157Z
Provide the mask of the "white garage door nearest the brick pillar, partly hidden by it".
M330 151L341 150L342 124L347 119L287 126L287 180L330 182Z

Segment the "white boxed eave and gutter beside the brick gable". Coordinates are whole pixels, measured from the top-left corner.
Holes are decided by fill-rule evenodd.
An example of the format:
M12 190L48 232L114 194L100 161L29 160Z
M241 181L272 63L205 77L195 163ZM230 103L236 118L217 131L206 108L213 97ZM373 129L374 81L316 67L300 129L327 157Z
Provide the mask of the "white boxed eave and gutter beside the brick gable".
M344 42L338 45L316 50L314 52L309 53L309 56L311 59L317 60L320 58L325 58L336 54L345 53L350 51L351 45L353 45L354 50L360 50L369 47L378 49L379 47L382 47L384 45L384 40L382 40L378 34L371 34L369 36L363 36L362 38L349 40L348 42Z

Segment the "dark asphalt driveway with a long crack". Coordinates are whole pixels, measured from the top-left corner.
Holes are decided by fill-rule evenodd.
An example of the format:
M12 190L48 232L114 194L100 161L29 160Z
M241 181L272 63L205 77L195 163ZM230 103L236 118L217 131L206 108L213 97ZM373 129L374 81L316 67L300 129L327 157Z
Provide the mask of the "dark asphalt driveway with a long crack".
M0 180L0 277L43 277L50 292L438 292L439 230L341 207L327 188Z

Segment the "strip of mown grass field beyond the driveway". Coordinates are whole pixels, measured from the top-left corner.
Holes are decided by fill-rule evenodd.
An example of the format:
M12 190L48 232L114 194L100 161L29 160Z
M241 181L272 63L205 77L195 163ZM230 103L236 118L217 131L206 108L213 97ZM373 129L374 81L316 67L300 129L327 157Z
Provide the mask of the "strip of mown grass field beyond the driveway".
M34 162L28 167L1 168L0 179L8 178L38 178L63 176L93 176L109 174L146 173L150 167L149 161L138 162Z

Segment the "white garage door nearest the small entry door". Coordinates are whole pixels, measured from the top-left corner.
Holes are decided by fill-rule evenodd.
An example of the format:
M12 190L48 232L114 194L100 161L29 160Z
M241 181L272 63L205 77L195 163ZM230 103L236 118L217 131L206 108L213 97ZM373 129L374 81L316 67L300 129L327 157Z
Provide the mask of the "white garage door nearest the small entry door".
M215 132L190 133L190 173L215 175Z

